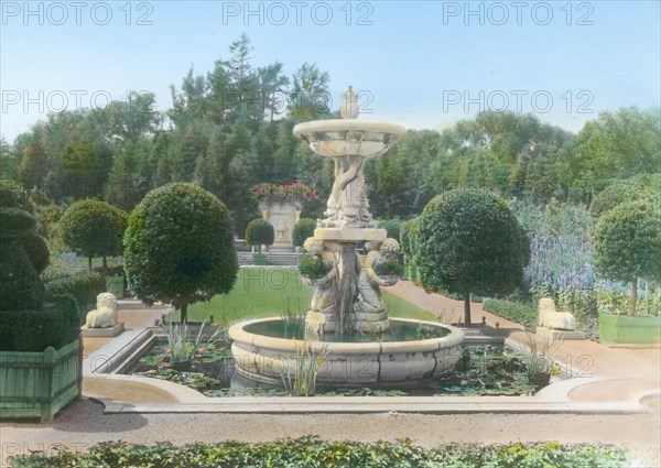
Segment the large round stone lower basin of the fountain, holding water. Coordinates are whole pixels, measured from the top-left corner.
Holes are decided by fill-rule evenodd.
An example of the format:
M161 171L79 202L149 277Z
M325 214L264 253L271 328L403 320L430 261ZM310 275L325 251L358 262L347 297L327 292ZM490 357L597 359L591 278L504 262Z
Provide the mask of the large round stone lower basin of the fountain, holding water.
M327 357L317 374L319 387L411 387L454 368L460 358L464 333L449 325L390 318L391 331L376 337L358 335L353 342L304 341L284 338L280 318L242 322L229 328L236 371L251 380L280 384L294 379L297 352L307 347Z

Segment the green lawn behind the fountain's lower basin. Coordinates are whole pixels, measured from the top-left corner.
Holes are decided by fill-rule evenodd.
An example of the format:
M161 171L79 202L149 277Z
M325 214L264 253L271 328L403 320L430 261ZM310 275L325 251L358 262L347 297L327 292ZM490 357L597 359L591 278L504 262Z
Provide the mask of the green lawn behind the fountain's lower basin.
M305 313L312 298L312 286L297 274L295 266L279 269L242 268L232 291L219 294L209 302L188 307L188 320L201 322L214 316L215 323L234 323L248 318L280 316L290 307ZM383 293L383 300L393 317L434 320L432 314L413 304ZM180 312L170 316L178 320Z

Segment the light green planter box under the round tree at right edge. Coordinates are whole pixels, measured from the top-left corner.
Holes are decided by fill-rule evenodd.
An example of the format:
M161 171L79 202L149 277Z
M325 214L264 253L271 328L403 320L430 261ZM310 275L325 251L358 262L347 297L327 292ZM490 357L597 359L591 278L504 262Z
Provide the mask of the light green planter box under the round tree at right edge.
M661 317L599 313L599 339L611 345L661 342Z

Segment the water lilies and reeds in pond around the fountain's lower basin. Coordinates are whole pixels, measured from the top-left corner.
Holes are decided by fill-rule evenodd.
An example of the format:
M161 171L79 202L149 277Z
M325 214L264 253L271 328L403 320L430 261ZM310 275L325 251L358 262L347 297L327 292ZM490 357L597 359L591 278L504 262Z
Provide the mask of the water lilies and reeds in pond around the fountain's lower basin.
M195 358L191 371L176 371L163 360L164 346L156 345L140 360L136 373L186 385L210 398L226 396L442 396L442 395L528 395L537 391L530 383L531 359L501 346L466 346L454 370L414 388L387 390L378 388L317 387L315 377L324 371L324 352L312 353L308 347L299 348L296 370L292 377L282 373L282 385L234 383L231 351L212 347ZM279 361L283 362L283 361ZM550 367L556 373L557 368ZM231 384L230 384L231 382Z

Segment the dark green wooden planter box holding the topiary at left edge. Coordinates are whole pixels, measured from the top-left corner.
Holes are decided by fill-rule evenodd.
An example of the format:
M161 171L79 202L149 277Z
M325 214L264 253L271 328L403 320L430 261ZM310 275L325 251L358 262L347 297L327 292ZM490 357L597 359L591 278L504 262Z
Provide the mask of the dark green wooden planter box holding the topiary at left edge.
M0 352L0 417L53 416L80 394L82 341L43 352Z

